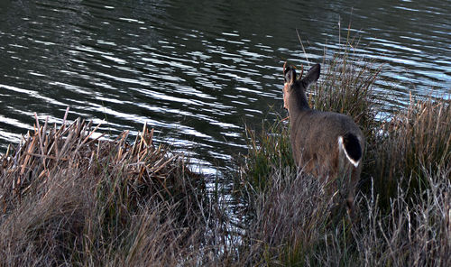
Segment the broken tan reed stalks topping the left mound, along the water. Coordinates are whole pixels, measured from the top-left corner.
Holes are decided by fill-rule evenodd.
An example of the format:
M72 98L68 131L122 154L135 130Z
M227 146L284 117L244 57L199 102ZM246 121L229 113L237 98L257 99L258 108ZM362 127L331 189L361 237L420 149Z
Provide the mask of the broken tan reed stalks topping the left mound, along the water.
M147 179L165 177L173 168L171 163L181 161L181 155L168 155L162 147L154 147L153 129L149 130L147 125L144 125L143 133L136 136L139 142L133 145L127 143L128 131L112 141L101 141L104 134L92 138L99 126L93 129L92 123L77 119L69 126L53 128L46 133L47 123L41 126L36 116L34 133L23 136L21 144L0 158L4 188L8 188L6 180L14 180L10 188L14 194L21 195L35 178L49 178L54 171L68 166L92 165L94 159L103 161L108 154L111 154L108 158L111 166L125 164L130 174L139 174L136 178L142 178L144 173L150 176ZM183 171L189 172L188 169ZM42 177L41 173L44 173Z

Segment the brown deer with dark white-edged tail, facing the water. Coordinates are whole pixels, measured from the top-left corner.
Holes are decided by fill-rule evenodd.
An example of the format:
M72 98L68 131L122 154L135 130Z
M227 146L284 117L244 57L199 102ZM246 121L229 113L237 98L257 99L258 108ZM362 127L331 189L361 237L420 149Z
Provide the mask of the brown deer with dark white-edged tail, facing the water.
M308 106L306 90L319 78L321 66L311 67L302 78L296 70L283 65L283 106L290 118L290 143L298 171L308 173L327 184L327 190L339 193L346 210L354 216L354 194L364 155L364 134L354 120L344 114L323 112Z

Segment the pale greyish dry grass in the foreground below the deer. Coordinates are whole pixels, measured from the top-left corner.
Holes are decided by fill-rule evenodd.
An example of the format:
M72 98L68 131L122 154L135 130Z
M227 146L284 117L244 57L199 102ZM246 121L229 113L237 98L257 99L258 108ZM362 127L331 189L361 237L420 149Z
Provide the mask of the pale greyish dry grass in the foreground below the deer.
M318 180L272 173L253 202L240 264L280 266L448 266L451 263L449 169L423 169L429 189L410 195L402 183L383 212L378 194L359 195L358 220L334 219ZM405 179L400 177L399 179Z

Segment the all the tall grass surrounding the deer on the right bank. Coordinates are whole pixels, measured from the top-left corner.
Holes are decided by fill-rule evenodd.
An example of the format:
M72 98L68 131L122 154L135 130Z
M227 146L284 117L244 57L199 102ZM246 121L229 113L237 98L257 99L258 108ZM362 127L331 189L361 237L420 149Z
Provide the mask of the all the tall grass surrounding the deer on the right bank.
M450 104L411 99L379 120L373 84L383 69L350 60L350 52L338 51L328 61L308 101L319 110L351 115L365 134L357 218L334 212L324 185L293 171L290 152L280 150L290 148L289 125L276 121L261 134L247 134L240 184L253 189L242 190L253 193L246 198L253 201L243 211L242 249L250 265L448 266Z

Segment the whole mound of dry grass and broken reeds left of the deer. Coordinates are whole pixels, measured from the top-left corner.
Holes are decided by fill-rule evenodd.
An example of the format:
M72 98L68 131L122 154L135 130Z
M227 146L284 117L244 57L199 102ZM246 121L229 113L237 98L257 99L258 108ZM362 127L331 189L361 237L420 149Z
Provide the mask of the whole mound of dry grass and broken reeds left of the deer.
M98 127L98 126L97 126ZM102 140L77 119L40 126L0 157L0 265L162 266L201 261L202 176L144 125ZM216 224L217 225L217 224Z

